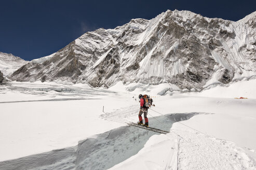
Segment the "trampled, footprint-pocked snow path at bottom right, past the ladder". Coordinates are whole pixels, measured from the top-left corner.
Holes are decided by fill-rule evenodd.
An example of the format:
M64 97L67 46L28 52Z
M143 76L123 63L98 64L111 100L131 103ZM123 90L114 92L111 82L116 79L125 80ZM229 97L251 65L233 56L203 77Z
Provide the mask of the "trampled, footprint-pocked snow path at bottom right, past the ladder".
M191 141L179 142L178 169L256 169L254 161L231 141L184 129L175 131Z

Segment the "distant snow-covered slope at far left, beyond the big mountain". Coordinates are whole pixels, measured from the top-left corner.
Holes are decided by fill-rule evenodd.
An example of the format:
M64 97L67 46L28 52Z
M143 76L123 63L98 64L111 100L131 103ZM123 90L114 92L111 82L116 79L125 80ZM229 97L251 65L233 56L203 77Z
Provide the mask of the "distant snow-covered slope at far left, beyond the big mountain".
M18 56L0 52L0 71L4 76L12 74L15 70L28 63Z

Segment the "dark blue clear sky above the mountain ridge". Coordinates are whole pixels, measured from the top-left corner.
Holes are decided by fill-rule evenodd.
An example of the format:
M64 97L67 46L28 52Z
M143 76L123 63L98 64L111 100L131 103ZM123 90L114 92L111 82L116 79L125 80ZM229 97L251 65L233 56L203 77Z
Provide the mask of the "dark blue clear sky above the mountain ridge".
M0 0L0 51L32 60L65 47L87 31L113 29L132 18L152 19L167 9L237 21L256 1Z

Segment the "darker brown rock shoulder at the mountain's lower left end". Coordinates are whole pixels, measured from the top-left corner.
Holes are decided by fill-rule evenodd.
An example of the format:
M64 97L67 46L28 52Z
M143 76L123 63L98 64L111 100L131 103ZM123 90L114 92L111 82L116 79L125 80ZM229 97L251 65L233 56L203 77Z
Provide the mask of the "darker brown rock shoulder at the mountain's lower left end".
M10 78L17 81L41 80L44 82L46 80L68 79L76 82L86 67L78 60L78 56L72 50L73 45L74 43L71 43L43 63L30 62L22 66Z

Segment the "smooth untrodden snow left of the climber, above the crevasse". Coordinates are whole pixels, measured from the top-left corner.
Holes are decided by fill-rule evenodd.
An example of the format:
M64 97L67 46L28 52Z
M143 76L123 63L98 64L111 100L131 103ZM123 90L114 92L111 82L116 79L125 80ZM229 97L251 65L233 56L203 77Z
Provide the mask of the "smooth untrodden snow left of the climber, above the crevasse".
M96 119L102 107L95 106L95 102L101 106L107 103L88 100L5 104L8 109L3 110L0 125L4 130L1 131L1 160L74 146L87 136L118 127L119 123ZM90 128L95 125L97 129Z

